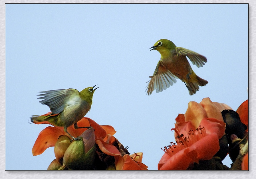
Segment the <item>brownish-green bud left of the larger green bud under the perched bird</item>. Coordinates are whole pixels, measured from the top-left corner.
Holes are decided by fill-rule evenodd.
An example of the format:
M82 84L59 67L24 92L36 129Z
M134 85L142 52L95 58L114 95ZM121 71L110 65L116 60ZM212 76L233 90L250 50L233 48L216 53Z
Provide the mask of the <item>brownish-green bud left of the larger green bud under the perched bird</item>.
M66 135L61 135L54 146L54 154L55 154L56 160L61 165L63 164L64 153L70 144L71 144L70 138Z

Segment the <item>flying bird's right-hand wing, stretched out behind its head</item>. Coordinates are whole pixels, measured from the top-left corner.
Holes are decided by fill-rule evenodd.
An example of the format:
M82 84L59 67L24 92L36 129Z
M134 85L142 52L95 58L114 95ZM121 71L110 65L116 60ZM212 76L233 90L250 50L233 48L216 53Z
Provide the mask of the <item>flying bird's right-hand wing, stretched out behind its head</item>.
M176 47L175 51L178 56L180 56L180 55L188 56L188 58L191 60L192 64L197 67L202 67L207 62L207 59L205 56L200 55L191 50L188 50L186 48Z

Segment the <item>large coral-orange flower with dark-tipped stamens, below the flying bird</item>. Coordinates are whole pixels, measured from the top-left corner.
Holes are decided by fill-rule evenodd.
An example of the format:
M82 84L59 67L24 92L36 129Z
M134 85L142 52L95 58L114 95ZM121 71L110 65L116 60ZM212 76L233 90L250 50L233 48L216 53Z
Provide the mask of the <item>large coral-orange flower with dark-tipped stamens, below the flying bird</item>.
M176 118L176 143L164 147L158 170L186 170L193 162L210 160L220 149L219 139L225 134L222 109L231 109L223 103L204 98L191 101L184 114Z

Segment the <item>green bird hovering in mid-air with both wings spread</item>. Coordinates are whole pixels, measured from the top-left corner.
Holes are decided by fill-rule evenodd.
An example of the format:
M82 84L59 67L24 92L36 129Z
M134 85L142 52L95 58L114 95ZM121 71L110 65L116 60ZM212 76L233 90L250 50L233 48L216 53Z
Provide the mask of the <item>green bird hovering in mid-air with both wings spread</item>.
M195 74L186 58L187 56L193 65L202 67L207 62L205 56L186 48L177 47L167 39L158 40L149 49L157 50L161 54L161 58L153 76L149 76L151 79L148 81L149 83L147 82L146 89L148 95L151 95L154 90L156 93L162 92L163 89L166 90L177 82L176 79L185 83L190 95L195 94L199 90L199 86L208 84L208 81Z

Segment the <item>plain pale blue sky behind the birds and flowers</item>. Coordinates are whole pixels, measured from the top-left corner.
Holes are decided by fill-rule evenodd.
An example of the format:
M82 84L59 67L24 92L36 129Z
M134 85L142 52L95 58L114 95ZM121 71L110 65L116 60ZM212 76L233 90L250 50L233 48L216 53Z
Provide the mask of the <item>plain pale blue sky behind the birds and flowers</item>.
M160 60L149 48L162 38L207 57L202 68L191 64L209 82L195 95L181 80L146 95ZM143 152L142 162L157 170L189 101L210 97L236 110L248 99L248 5L6 4L5 169L46 170L55 158L53 147L31 153L48 126L28 123L49 112L38 91L96 84L86 117L112 125L129 152Z

